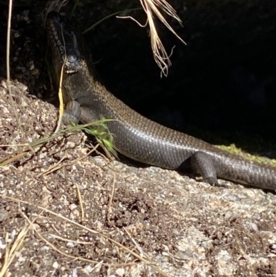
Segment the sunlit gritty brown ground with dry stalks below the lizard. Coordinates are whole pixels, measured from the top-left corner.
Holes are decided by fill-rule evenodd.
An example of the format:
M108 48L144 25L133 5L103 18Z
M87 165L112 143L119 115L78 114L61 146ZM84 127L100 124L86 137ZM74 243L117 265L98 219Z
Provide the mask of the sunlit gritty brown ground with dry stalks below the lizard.
M54 106L21 84L12 99L20 124L2 82L1 158L55 129ZM29 228L12 276L166 276L152 265L169 276L276 274L276 195L86 153L85 135L67 135L0 169L1 265Z

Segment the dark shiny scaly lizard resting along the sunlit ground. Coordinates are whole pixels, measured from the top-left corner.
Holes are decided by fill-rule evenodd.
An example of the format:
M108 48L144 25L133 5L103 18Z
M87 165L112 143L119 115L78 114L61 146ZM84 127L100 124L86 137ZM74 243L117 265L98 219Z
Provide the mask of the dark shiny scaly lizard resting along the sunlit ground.
M246 160L152 122L117 99L99 82L90 57L83 57L86 50L78 50L82 44L77 45L72 29L63 20L57 12L48 15L48 41L57 75L60 74L62 56L66 57L60 46L64 44L63 38L66 41L65 71L70 73L64 73L63 94L68 113L75 121L88 123L102 117L114 119L108 122L108 129L114 134L115 146L133 160L166 169L192 169L210 184L219 185L219 177L262 189L276 189L275 167ZM61 30L65 32L63 38Z

